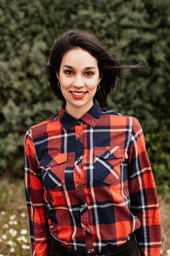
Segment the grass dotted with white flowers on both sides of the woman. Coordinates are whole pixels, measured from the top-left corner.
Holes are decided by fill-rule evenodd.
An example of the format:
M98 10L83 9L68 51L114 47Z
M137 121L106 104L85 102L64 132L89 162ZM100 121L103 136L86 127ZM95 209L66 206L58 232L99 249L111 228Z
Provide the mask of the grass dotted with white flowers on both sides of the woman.
M170 203L160 197L162 253L170 255ZM30 238L23 181L0 182L0 256L30 256Z

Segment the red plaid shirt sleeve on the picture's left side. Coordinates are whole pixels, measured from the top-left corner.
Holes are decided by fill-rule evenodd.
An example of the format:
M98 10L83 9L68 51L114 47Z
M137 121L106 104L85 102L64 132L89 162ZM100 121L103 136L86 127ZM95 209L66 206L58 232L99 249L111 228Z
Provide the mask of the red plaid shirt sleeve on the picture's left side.
M37 168L31 130L26 132L25 137L25 184L32 254L47 256L49 241L47 204L43 200L42 176L40 169Z

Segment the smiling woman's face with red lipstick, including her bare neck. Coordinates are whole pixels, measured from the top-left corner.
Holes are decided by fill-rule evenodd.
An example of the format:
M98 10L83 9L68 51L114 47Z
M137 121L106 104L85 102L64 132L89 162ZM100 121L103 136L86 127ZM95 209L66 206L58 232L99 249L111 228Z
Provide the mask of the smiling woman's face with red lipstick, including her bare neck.
M65 110L75 117L78 111L81 117L94 104L101 79L98 61L84 49L71 49L63 56L57 76L66 101Z

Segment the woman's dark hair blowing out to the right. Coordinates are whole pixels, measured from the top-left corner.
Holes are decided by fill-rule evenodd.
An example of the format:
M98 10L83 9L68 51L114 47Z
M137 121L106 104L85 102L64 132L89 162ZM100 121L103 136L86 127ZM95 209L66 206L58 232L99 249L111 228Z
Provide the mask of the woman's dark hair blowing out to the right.
M120 66L116 60L105 50L104 46L89 32L82 30L70 30L65 32L59 39L55 40L51 51L49 64L46 66L48 81L54 94L65 102L61 90L57 86L59 79L56 73L59 73L60 64L63 55L70 49L82 48L87 50L98 61L99 73L102 77L100 88L96 91L94 99L99 102L101 108L107 106L107 96L113 88L116 87L117 79L121 79L126 70L137 66Z

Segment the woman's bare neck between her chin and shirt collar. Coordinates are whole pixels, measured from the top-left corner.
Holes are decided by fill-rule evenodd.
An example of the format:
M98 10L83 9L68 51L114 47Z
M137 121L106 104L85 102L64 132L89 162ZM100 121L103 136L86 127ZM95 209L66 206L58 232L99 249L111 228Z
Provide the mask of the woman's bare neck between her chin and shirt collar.
M88 105L87 107L73 107L66 102L65 111L71 114L71 116L75 119L80 119L84 113L87 113L88 110L93 107L93 105L94 102L92 102L92 104Z

